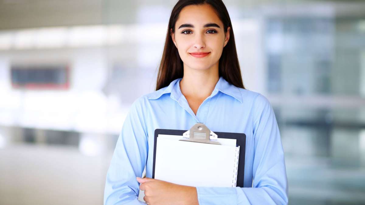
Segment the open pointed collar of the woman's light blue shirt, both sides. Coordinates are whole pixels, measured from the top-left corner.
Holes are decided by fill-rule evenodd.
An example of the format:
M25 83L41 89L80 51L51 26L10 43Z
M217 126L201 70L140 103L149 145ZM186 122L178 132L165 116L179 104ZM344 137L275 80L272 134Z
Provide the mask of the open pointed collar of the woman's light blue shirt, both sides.
M177 79L173 80L165 88L161 88L160 90L150 93L150 95L148 96L148 99L155 100L155 99L160 98L163 94L171 93L170 97L173 98L174 100L178 101L179 98L183 95L180 90L181 79L182 78L177 78ZM239 102L242 103L242 95L241 95L239 88L237 88L236 86L227 82L222 76L219 77L219 80L218 80L217 84L215 85L215 88L210 97L214 96L216 93L218 93L218 91L220 91L224 94L227 94L231 97L234 97L235 99L237 99Z

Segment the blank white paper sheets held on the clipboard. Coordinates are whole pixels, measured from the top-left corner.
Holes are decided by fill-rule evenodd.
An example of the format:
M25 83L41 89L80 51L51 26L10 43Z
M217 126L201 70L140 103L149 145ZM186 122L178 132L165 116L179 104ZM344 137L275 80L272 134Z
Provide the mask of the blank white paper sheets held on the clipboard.
M155 179L187 186L232 187L236 140L221 138L229 144L226 146L179 141L181 138L158 136Z

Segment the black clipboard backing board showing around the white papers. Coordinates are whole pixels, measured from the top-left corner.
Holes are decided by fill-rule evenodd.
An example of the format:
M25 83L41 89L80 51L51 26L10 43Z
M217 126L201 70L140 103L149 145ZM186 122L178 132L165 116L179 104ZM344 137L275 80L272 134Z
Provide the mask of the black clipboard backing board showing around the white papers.
M158 135L178 135L183 136L187 130L181 129L155 129L154 145L153 145L153 168L152 178L155 178L155 161L156 161L156 147ZM219 138L225 139L236 139L236 146L241 146L239 151L238 159L238 170L237 170L237 187L243 187L244 176L245 176L245 152L246 152L246 135L243 133L234 132L214 132ZM194 142L192 142L194 143Z

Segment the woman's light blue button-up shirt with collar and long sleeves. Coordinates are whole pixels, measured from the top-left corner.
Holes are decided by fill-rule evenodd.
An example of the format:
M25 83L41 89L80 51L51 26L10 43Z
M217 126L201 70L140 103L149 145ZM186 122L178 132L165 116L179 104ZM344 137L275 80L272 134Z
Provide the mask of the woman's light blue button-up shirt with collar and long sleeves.
M188 130L197 122L214 132L246 134L244 187L196 187L200 205L287 204L284 152L270 102L220 77L195 115L180 80L133 102L107 173L104 204L144 204L136 177L146 166L146 177L152 178L155 129Z

